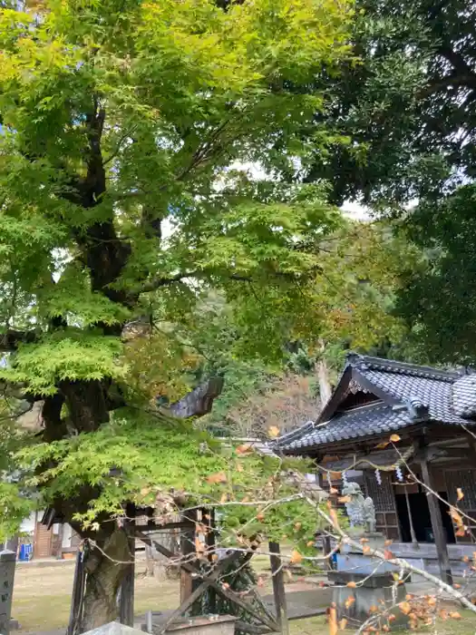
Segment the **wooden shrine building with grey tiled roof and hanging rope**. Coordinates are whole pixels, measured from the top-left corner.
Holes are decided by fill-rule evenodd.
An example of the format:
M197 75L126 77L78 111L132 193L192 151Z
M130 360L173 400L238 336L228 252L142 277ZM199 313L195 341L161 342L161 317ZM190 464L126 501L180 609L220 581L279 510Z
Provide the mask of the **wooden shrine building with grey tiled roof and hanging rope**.
M470 370L349 355L316 422L281 437L277 449L315 459L327 490L344 473L361 484L392 552L451 582L475 549L476 523L452 523L448 504L476 518L475 425Z

